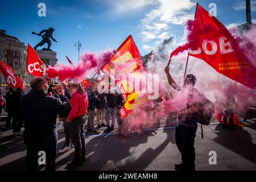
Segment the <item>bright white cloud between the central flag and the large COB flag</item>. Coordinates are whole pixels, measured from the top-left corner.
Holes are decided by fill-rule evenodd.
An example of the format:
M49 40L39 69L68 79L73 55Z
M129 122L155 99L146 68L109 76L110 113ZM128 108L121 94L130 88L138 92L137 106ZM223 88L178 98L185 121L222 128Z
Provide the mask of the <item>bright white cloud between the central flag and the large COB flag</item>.
M143 42L151 42L152 49L158 49L159 45L164 39L170 38L171 28L174 24L183 25L188 19L193 19L194 14L188 13L192 7L196 5L191 0L157 0L158 6L148 11L148 13L141 20L140 36ZM170 48L175 48L184 43L187 38L187 33L184 32L183 36L174 36L174 40ZM147 47L143 49L148 51Z

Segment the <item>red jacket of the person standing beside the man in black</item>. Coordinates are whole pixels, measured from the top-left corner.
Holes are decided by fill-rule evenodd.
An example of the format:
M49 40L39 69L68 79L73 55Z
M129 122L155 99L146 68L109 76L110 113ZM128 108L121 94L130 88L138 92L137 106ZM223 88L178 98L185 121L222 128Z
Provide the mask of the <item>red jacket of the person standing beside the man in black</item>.
M71 111L68 114L68 121L72 122L74 118L80 117L81 115L85 115L87 113L88 108L88 96L86 93L79 94L77 91L71 96Z

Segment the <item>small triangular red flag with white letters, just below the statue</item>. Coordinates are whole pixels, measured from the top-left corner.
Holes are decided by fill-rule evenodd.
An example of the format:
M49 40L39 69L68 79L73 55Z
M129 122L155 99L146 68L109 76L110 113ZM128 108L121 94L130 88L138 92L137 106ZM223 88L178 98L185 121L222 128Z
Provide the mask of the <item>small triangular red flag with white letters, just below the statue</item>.
M27 49L27 73L34 76L44 76L46 74L46 65L44 65L30 44L28 44Z

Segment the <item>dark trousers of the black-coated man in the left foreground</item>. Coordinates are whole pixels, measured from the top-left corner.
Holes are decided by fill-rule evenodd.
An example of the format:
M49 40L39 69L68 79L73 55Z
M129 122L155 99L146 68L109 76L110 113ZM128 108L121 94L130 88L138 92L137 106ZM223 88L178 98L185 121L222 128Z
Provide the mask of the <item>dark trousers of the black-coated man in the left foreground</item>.
M51 139L47 143L39 141L27 143L26 170L36 171L39 165L38 159L42 156L38 155L39 151L46 152L46 171L54 171L57 154L57 141L55 139Z

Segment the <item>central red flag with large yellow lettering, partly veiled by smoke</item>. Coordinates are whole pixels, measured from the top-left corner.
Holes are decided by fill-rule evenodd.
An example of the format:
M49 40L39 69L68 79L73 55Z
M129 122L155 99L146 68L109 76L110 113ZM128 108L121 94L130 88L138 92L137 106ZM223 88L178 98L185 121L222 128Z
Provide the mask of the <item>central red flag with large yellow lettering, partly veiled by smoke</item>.
M114 73L112 69L114 69ZM146 101L145 97L141 98L141 94L134 93L131 88L129 90L127 79L115 79L115 75L119 73L127 76L129 73L136 72L139 74L146 72L139 50L131 35L121 44L109 63L101 68L101 71L115 82L119 92L122 94L122 98L125 101L119 111L122 118L126 118L137 104L143 104Z

